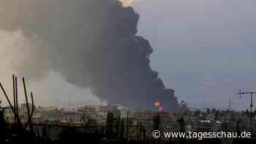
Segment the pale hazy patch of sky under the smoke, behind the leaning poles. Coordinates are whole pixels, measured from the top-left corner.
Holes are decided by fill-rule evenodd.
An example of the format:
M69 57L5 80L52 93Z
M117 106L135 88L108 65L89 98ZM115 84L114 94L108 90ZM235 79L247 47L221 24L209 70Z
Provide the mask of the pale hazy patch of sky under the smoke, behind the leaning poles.
M23 85L21 78L24 75L15 72L13 67L26 67L31 69L31 61L27 61L27 57L31 50L41 47L40 42L23 36L22 31L0 31L0 82L7 91L8 96L12 99L12 74L18 76L18 97L20 103L25 102ZM40 58L42 53L38 53L34 58ZM12 65L11 65L12 64ZM45 67L45 64L39 64L38 67ZM19 69L19 68L18 68ZM31 69L31 74L34 70ZM37 74L35 74L37 75ZM59 105L69 107L74 105L105 105L105 102L91 94L88 88L78 88L67 83L58 72L50 71L47 77L42 80L34 80L26 77L26 85L28 91L34 93L35 105ZM7 104L2 91L0 100Z

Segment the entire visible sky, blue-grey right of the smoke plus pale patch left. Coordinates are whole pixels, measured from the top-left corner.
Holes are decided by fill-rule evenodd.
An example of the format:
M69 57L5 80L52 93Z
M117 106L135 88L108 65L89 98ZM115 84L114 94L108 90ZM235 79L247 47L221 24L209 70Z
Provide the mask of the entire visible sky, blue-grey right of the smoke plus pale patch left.
M154 48L152 69L159 72L165 87L175 89L178 99L195 108L226 109L229 101L236 109L249 108L249 99L236 93L239 88L256 90L256 1L140 0L127 1L126 6L138 12L138 35ZM15 61L18 56L26 57L17 46L44 45L31 41L20 31L0 31L0 78L9 93L12 72L4 56L16 51L12 53ZM89 89L65 83L56 72L40 82L30 80L29 89L36 94L36 105L68 105L69 96L77 105L105 104Z

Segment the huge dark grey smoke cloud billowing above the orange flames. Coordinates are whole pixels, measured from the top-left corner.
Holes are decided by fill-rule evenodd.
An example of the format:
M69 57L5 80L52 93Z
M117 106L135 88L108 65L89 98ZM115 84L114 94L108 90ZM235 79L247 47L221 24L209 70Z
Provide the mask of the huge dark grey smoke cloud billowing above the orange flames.
M150 67L149 42L135 35L132 7L117 0L0 0L0 18L1 30L47 44L26 51L21 74L39 80L53 69L110 105L145 110L160 100L166 110L177 107L174 91Z

